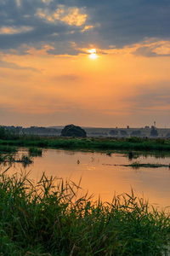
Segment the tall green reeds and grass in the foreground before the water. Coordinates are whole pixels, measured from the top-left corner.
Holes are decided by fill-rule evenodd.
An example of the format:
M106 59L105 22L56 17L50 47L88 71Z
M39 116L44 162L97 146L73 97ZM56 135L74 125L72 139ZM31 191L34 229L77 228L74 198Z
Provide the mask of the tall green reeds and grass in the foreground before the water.
M55 184L55 185L54 185ZM0 175L0 255L167 255L170 216L133 195L77 200L79 185Z

